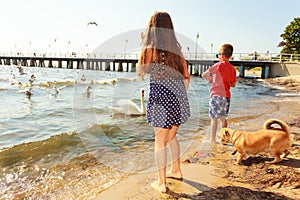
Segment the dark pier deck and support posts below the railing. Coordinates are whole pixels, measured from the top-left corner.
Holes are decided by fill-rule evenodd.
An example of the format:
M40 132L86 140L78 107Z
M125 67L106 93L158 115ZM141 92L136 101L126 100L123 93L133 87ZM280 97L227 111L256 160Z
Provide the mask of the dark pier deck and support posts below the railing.
M138 60L133 58L77 58L77 57L45 57L45 56L1 56L0 65L22 65L28 67L48 67L83 70L101 70L118 72L135 72ZM216 59L187 60L188 70L191 75L201 76L201 74L218 62ZM239 76L245 77L245 70L254 67L261 68L260 78L274 77L273 68L281 63L274 60L231 60L239 70ZM278 69L276 69L278 71ZM278 76L278 75L277 75Z

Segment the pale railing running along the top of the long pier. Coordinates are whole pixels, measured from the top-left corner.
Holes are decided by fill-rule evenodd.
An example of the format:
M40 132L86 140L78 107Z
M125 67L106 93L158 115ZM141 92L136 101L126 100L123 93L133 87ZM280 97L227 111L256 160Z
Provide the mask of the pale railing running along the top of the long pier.
M187 60L216 60L215 53L191 53L183 52ZM138 59L139 53L16 53L0 52L1 57L39 57L39 58L83 58L83 59ZM278 54L278 53L234 53L231 60L257 60L274 62L300 62L300 54Z

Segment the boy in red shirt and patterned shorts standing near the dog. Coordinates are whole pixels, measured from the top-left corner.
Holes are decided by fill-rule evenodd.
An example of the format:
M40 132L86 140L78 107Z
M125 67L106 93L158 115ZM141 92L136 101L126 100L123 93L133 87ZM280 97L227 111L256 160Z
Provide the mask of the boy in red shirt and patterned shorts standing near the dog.
M235 87L236 84L236 70L229 63L229 58L233 53L233 46L231 44L223 44L218 52L216 57L219 58L219 62L202 74L203 78L212 83L209 101L212 143L216 143L218 119L220 119L222 127L227 127L226 117L230 106L230 87Z

